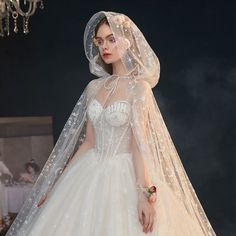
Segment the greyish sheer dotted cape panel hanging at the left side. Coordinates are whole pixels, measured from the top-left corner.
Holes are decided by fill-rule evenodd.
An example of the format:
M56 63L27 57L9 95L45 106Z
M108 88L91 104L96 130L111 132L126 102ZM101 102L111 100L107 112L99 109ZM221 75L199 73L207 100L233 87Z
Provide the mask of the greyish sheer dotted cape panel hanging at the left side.
M74 106L62 132L45 163L24 205L7 232L8 236L26 235L29 225L40 210L38 203L55 186L68 160L74 155L85 138L87 105L96 94L97 83L91 82Z

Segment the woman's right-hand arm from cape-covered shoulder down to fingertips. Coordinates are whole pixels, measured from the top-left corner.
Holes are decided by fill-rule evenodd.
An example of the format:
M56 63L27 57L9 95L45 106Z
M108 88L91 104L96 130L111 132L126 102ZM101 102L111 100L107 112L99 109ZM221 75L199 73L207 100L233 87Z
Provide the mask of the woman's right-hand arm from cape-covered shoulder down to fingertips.
M133 95L131 149L138 191L138 217L143 227L143 232L147 233L149 231L152 232L156 215L154 205L149 201L150 199L147 198L145 192L145 189L153 184L147 163L147 158L152 155L147 135L149 85L142 82L137 83L134 87Z

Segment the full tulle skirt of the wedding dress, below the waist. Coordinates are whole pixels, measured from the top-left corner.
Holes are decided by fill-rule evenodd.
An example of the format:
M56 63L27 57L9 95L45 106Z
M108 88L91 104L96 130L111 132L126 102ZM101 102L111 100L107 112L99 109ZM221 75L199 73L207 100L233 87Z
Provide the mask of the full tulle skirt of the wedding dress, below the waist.
M94 149L73 160L24 236L201 236L197 221L161 182L154 229L138 220L138 194L130 153L99 160Z

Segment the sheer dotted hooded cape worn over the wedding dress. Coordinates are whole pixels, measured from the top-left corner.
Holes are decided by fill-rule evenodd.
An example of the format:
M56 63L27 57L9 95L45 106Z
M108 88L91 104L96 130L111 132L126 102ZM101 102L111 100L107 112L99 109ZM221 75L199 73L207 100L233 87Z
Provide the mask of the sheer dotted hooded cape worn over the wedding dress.
M110 74L94 44L94 29L104 17L119 47L125 75ZM140 152L133 158L136 183L157 186L154 204L157 235L216 235L187 177L153 95L152 88L159 80L160 64L141 31L123 14L98 12L86 26L84 47L90 71L99 78L92 80L80 96L7 236L26 235L25 229L39 211L37 204L41 197L54 187L66 164L83 143L88 106L104 88L107 90L101 103L104 109L117 101L130 106L129 124ZM131 149L131 153L134 152Z

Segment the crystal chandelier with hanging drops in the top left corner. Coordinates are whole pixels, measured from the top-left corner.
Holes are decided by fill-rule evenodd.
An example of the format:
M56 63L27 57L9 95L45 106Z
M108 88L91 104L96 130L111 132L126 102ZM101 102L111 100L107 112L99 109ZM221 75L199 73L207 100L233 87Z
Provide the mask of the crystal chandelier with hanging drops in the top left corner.
M43 9L42 0L0 0L0 36L10 35L10 18L14 24L14 33L18 30L18 17L22 18L23 33L29 33L29 18L37 7Z

